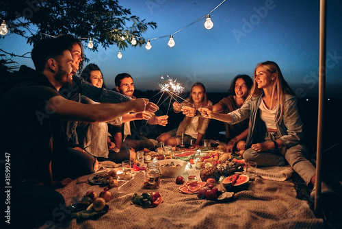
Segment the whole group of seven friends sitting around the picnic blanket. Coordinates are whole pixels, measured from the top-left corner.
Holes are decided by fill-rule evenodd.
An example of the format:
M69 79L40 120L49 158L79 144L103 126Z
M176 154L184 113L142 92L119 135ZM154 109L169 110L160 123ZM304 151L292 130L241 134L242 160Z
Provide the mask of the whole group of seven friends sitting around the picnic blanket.
M1 80L0 147L11 161L12 224L58 221L55 210L65 203L54 189L94 173L98 161L134 161L135 152L161 142L202 145L210 119L224 122L225 152L246 150L244 159L258 166L288 164L315 186L298 100L275 62L259 63L252 78L234 77L231 95L215 105L196 82L188 98L173 104L185 115L178 128L153 141L131 125L166 126L168 116L155 115L158 106L133 96L128 73L116 75L116 91L107 90L96 64L83 69L83 55L81 41L71 35L40 40L31 51L36 69L22 66Z

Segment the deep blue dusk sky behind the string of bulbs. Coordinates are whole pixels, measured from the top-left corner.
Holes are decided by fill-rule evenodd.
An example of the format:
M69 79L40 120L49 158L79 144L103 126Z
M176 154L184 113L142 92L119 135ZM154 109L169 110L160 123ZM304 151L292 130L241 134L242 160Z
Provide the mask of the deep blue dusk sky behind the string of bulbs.
M148 29L143 36L158 39L151 40L150 50L144 46L122 50L121 59L116 46L98 52L87 47L86 56L103 71L107 88L114 87L118 73L127 72L141 91L158 89L160 76L169 75L186 91L202 82L208 92L225 92L235 75L252 77L259 62L272 60L298 97L317 96L319 0L226 0L210 14L212 29L205 29L205 18L189 25L222 1L119 1L132 15L157 23L157 29ZM342 1L328 1L327 9L326 95L342 97ZM167 45L170 34L176 43L172 48ZM0 40L1 49L16 54L31 51L25 43L16 34ZM14 60L33 67L31 60Z

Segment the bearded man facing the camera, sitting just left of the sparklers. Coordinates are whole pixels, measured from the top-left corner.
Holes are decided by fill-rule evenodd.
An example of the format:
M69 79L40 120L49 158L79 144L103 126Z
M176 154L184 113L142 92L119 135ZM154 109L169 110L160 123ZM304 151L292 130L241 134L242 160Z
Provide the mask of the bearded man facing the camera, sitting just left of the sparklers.
M133 77L128 73L121 73L115 77L116 90L122 95L134 98L134 83ZM122 115L122 125L120 127L111 125L109 132L114 138L114 143L119 149L130 149L131 147L135 151L142 150L144 148L153 149L155 143L150 141L148 138L143 136L137 127L135 126L134 120L148 120L147 123L151 125L163 125L168 123L168 116L155 116L151 112L134 112L127 115ZM131 124L133 130L131 130ZM123 147L122 147L122 143Z

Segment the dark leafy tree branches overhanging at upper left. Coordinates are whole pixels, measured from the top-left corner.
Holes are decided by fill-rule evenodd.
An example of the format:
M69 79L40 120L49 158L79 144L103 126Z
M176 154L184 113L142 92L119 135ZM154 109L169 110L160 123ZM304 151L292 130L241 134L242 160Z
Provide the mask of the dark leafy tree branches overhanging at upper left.
M146 43L142 34L148 27L157 27L154 22L131 15L131 10L120 6L118 0L2 0L0 9L0 18L6 21L9 32L24 36L29 44L46 34L73 34L85 40L92 38L93 51L98 45L125 49L133 37L139 46Z

